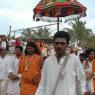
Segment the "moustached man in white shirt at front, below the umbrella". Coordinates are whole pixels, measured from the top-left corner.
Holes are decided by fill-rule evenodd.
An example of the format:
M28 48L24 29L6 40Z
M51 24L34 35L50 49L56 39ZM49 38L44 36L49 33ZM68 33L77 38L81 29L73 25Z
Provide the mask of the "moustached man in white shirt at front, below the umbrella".
M69 43L69 34L58 31L54 35L55 54L49 56L41 73L41 81L35 95L53 95L53 90L64 62L65 50ZM86 77L79 59L71 54L64 69L64 76L59 80L55 95L77 95L76 77L80 83L81 95L86 92Z

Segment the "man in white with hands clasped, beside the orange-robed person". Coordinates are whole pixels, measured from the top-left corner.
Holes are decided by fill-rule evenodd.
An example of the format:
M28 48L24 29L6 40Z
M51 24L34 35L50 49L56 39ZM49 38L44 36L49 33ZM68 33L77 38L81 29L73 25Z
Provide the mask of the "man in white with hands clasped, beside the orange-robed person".
M20 95L20 87L19 87L20 79L18 76L18 67L19 67L19 60L23 56L22 52L23 52L22 46L17 46L15 48L15 55L12 57L11 64L9 66L10 69L8 71L9 83L8 83L7 95ZM14 76L15 78L13 78Z

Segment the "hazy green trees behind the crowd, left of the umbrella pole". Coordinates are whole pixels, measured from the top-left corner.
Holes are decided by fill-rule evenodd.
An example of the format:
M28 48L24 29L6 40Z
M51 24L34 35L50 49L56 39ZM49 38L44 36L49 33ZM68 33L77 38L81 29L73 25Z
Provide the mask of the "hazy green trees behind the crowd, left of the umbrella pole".
M22 35L24 38L32 38L32 39L50 39L51 32L49 28L39 27L37 29L26 29Z

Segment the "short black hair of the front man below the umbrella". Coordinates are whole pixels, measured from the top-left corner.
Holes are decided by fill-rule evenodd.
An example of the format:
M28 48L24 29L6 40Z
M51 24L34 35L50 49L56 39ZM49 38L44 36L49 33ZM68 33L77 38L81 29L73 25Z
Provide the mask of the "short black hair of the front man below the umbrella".
M53 41L55 41L56 38L66 38L67 44L69 44L70 35L68 32L65 31L58 31L53 36Z

